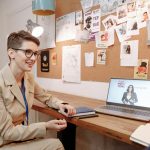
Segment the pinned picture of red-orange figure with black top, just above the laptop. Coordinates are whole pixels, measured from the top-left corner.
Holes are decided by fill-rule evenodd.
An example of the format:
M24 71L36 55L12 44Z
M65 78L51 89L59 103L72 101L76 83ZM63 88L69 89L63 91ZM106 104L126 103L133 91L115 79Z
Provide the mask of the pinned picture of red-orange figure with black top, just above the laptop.
M138 66L134 67L135 79L147 79L148 59L139 59Z

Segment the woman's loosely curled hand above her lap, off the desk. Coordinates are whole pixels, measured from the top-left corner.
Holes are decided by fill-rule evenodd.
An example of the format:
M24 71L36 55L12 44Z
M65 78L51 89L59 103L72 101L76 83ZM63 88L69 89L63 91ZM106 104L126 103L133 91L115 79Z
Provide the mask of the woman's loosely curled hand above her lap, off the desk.
M67 127L67 122L65 119L60 120L50 120L46 122L46 129L61 131Z

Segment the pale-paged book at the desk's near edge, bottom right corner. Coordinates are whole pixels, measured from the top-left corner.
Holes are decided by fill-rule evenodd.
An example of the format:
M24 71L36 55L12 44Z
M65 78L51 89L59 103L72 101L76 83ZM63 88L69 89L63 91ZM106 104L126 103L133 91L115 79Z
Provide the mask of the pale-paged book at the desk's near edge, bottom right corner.
M130 140L142 144L146 147L150 146L150 124L140 125L130 136Z

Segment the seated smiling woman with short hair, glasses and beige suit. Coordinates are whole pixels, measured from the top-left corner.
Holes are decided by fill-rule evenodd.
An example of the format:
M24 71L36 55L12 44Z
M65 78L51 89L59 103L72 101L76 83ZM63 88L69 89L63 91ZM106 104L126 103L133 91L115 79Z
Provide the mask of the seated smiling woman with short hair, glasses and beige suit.
M65 120L28 123L34 98L49 107L67 109L68 114L75 114L72 106L53 97L34 81L30 71L40 55L39 44L37 38L25 31L14 32L8 37L10 63L0 71L0 150L64 149L58 139L44 137L47 130L65 129Z

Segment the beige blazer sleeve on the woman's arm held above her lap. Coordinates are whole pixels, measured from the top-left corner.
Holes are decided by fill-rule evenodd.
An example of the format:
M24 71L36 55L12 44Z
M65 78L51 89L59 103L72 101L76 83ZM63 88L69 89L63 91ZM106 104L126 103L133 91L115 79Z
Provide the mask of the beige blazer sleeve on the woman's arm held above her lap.
M24 141L46 135L45 122L35 123L29 126L15 126L12 122L13 119L5 108L2 90L0 88L0 136L4 140Z

